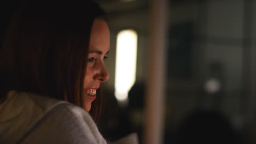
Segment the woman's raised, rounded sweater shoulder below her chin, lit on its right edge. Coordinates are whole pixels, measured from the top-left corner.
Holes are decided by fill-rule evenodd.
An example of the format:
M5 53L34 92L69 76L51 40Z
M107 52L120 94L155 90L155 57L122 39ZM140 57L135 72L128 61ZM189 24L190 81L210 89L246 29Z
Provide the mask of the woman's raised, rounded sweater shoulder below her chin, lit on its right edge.
M70 103L52 107L27 131L21 143L106 143L89 113Z

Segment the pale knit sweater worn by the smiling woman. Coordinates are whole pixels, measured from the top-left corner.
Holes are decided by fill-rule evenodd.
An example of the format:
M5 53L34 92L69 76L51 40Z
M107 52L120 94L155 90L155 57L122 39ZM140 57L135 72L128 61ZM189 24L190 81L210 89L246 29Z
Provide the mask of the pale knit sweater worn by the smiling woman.
M88 112L66 101L10 91L0 104L0 143L106 143Z

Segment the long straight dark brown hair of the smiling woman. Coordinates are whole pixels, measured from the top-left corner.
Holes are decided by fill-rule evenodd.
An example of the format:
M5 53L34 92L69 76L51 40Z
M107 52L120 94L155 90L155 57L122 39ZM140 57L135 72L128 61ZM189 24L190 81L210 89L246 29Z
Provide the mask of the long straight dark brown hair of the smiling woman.
M92 22L104 19L92 1L27 1L4 36L0 50L0 97L10 90L34 92L83 107L83 83ZM101 97L90 114L97 121Z

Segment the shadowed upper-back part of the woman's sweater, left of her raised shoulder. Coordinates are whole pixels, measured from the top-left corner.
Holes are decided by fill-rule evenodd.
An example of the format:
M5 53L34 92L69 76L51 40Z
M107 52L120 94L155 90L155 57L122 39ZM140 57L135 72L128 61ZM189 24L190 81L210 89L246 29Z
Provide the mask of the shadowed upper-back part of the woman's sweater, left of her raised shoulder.
M0 143L16 143L52 107L64 102L34 93L9 91L0 104Z

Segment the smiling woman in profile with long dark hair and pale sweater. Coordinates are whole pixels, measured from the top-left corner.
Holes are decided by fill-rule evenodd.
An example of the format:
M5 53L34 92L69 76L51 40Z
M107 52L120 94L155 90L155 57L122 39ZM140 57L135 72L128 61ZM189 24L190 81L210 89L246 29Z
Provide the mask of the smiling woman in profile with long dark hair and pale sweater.
M0 53L0 143L106 143L95 124L109 77L104 15L91 1L16 11Z

